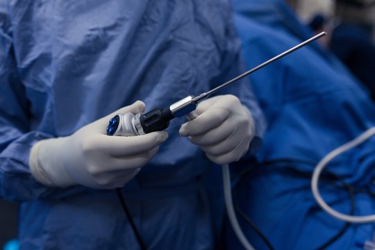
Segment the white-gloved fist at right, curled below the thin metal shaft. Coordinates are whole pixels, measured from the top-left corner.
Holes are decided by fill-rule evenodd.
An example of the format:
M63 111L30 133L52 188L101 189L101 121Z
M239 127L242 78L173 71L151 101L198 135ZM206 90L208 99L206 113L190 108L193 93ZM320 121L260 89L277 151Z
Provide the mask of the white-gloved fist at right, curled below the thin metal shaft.
M255 124L237 97L212 97L199 103L195 111L199 116L183 124L179 132L205 151L210 160L222 165L247 153Z

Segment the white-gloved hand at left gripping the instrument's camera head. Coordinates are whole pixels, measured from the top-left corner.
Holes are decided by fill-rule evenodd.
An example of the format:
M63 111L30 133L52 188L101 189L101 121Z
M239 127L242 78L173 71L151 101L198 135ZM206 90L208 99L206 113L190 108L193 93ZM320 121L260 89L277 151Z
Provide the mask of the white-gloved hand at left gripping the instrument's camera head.
M114 115L143 111L144 103L136 101L70 136L37 142L29 158L31 174L44 185L61 188L124 186L155 156L158 145L167 140L168 135L153 132L133 137L108 136L106 126Z

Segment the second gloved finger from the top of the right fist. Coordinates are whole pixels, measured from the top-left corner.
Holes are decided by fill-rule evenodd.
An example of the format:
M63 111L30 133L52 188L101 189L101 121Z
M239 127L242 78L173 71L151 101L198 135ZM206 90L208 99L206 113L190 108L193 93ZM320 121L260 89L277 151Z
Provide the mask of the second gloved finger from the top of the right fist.
M236 122L233 119L227 119L223 124L203 135L190 136L190 142L199 146L210 146L218 144L229 138L236 130Z

